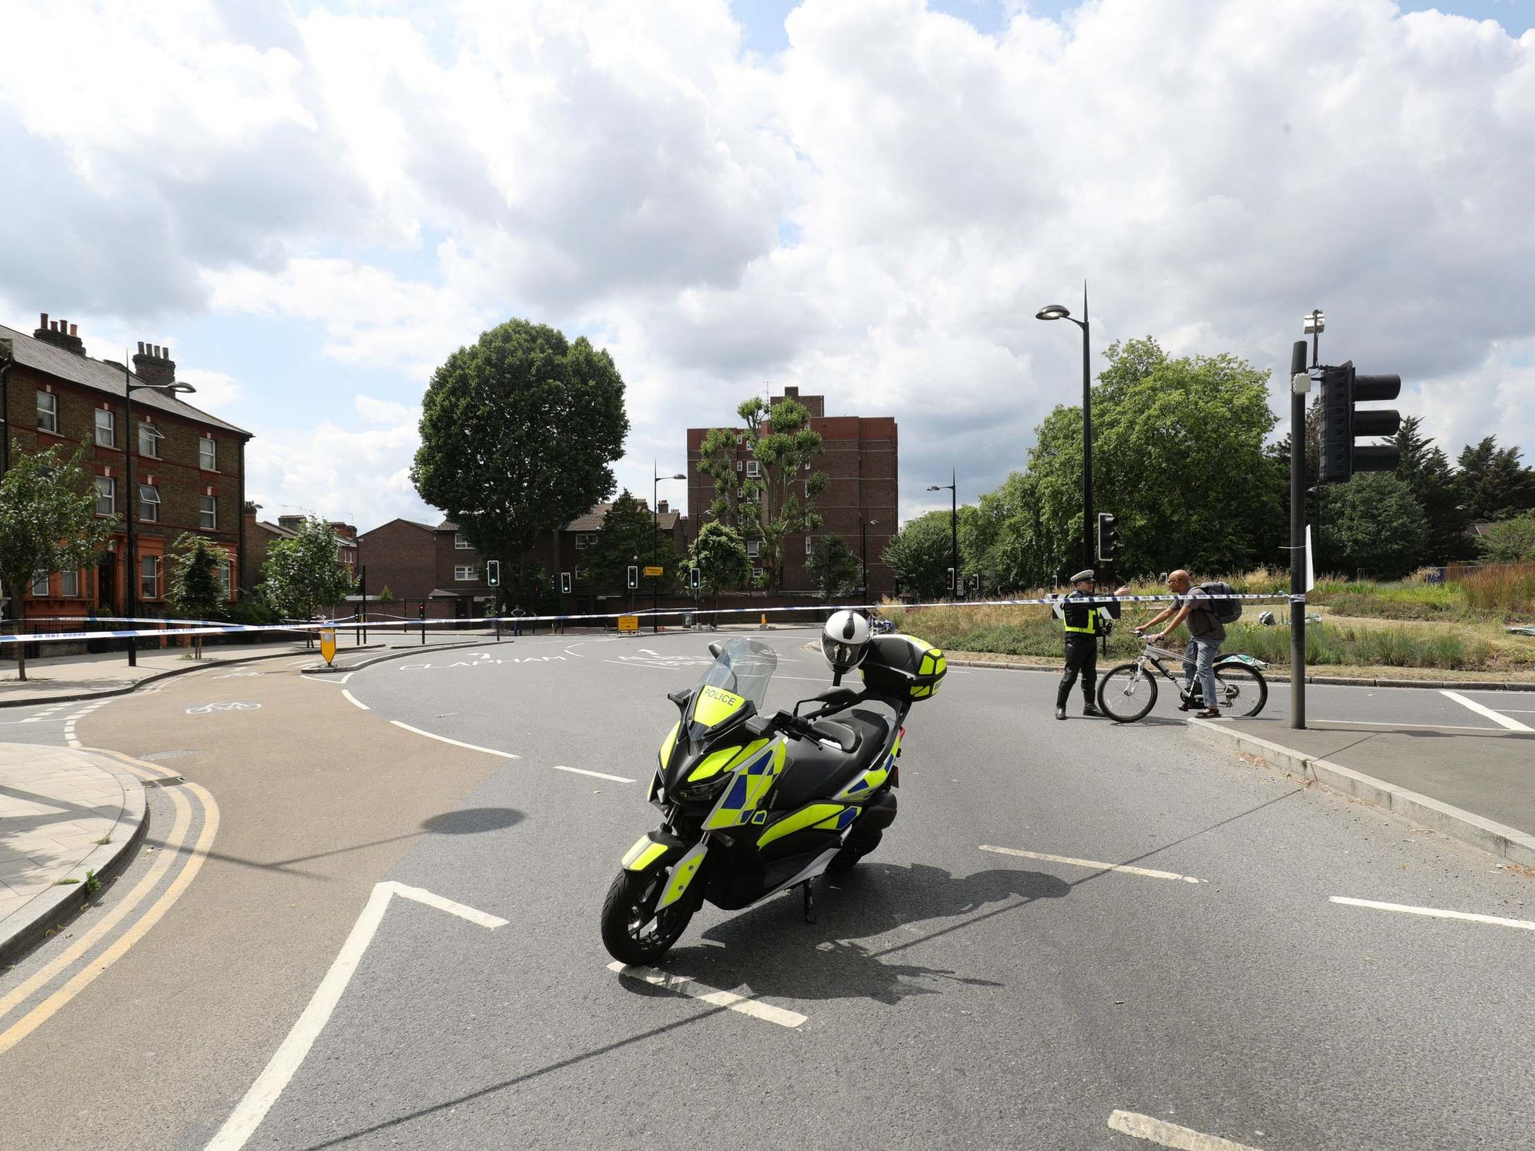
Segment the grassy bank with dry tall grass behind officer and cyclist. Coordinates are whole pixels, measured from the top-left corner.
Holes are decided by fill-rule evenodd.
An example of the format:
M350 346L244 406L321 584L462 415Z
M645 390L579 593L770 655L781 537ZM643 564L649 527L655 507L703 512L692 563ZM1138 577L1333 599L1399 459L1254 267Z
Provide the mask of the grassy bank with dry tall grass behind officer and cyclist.
M1234 583L1234 580L1233 580ZM1289 628L1285 605L1271 608L1273 626L1257 623L1263 605L1246 605L1243 617L1226 626L1225 651L1248 652L1276 666L1289 663ZM903 631L921 635L947 651L987 652L1025 658L1061 658L1061 623L1045 608L890 606L883 609ZM1108 638L1108 661L1134 657L1139 643L1130 628L1153 615L1150 605L1127 605L1125 618ZM1174 645L1176 646L1176 645ZM1102 665L1104 657L1099 657ZM1489 622L1383 622L1345 618L1325 612L1306 628L1306 665L1317 668L1406 668L1535 677L1535 640L1507 635Z

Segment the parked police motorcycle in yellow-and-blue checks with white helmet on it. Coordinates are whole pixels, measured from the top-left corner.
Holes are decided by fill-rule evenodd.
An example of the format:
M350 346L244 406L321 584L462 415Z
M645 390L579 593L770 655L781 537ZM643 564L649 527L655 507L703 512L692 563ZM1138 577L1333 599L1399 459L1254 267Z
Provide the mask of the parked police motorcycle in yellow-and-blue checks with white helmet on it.
M812 881L853 867L895 820L906 714L947 672L932 645L870 637L838 611L821 632L830 689L764 714L772 648L732 637L709 652L692 689L666 697L678 720L648 795L662 826L625 852L602 907L602 941L625 964L665 955L705 899L734 912L803 887L814 922ZM861 691L841 684L853 669Z

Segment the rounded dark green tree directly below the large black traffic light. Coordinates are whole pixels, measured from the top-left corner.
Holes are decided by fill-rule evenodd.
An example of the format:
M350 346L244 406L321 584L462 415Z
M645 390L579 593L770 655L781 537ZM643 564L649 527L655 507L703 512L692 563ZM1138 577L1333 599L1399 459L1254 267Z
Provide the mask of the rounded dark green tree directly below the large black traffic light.
M1328 563L1349 576L1400 579L1423 552L1428 519L1412 488L1388 471L1325 488L1322 510Z

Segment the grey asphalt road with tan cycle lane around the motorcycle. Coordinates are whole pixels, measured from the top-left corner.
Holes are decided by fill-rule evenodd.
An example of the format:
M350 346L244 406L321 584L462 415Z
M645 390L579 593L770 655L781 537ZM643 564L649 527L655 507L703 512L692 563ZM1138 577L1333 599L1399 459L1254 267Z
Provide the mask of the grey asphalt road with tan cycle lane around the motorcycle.
M812 634L768 635L769 704L829 683ZM164 921L0 1054L0 1133L48 1108L18 1146L207 1146L388 879L505 924L390 901L243 1146L1148 1146L1117 1111L1263 1151L1529 1146L1535 932L1332 902L1530 919L1529 876L1190 740L1170 706L1056 723L1039 674L953 669L913 707L901 815L817 924L797 893L706 907L663 962L692 984L611 971L597 912L705 641L275 672L249 712L187 715L220 701L189 677L83 717L89 746L198 749L173 767L223 827ZM1312 707L1406 706L1371 698ZM697 998L718 990L777 1011Z

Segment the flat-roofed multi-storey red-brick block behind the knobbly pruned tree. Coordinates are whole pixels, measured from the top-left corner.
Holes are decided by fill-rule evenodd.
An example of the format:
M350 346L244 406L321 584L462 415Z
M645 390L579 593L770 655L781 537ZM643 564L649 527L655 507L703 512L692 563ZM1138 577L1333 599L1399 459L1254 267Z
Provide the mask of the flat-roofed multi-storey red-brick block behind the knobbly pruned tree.
M893 594L895 576L880 559L886 545L900 531L900 485L898 485L898 437L892 416L827 416L824 396L801 396L798 388L784 388L780 399L797 399L810 411L810 428L823 439L823 453L812 465L824 471L829 482L815 500L815 508L826 520L817 531L791 536L784 542L783 588L784 592L810 591L806 571L809 551L817 536L841 536L855 556L861 556L863 539L860 520L873 520L867 526L869 543L869 592L872 595ZM698 448L711 428L688 428L688 517L695 525L694 534L709 522L709 505L714 503L714 479L698 471ZM740 428L744 434L746 428ZM737 448L737 470L743 474L755 467L744 440ZM803 491L801 491L803 497ZM748 552L757 542L748 539ZM760 571L752 560L754 574Z

